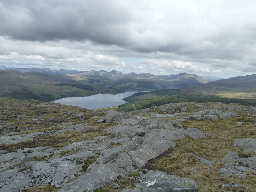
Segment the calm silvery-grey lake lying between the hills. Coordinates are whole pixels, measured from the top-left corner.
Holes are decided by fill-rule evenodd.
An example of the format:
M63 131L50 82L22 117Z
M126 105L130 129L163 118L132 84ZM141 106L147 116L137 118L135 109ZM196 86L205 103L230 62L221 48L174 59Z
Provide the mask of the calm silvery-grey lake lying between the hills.
M106 108L127 103L122 99L134 93L138 92L127 91L125 93L119 93L115 95L99 93L97 95L91 95L88 97L65 97L52 102L61 103L64 105L75 105L87 109Z

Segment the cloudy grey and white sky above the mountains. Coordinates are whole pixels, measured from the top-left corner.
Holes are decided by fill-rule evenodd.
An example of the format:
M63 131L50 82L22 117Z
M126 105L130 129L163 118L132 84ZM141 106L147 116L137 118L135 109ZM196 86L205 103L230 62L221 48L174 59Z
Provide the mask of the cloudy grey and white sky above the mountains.
M0 65L256 73L252 0L0 0Z

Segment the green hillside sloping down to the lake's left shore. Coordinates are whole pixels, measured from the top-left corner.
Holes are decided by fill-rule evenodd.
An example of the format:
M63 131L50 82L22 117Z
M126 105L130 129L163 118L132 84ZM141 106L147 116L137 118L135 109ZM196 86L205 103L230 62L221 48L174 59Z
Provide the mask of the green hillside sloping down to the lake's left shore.
M22 100L36 99L52 101L62 97L95 94L95 91L76 87L56 87L55 84L57 83L80 84L80 82L70 80L63 75L47 75L39 72L20 73L16 71L1 71L0 82L1 97L12 97Z

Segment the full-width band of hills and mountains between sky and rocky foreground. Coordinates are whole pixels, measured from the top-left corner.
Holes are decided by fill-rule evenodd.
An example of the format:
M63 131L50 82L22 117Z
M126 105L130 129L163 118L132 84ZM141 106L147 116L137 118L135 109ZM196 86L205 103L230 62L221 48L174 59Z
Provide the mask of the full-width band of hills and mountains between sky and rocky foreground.
M123 74L116 70L110 72L105 70L77 71L0 66L0 82L0 97L23 100L52 101L62 97L88 96L97 93L115 94L125 91L154 90L161 91L150 93L150 95L145 93L137 99L149 98L152 94L155 94L153 97L192 94L194 96L254 98L256 74L210 81L196 74L187 73L153 75L132 72ZM175 89L175 91L168 89Z

